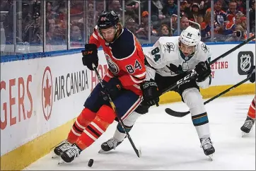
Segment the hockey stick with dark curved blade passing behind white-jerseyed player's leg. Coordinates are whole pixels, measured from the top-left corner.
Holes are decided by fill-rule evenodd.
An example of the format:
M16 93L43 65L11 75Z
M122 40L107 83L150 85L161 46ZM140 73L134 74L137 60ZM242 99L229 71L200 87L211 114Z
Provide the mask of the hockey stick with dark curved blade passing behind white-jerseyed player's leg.
M251 76L252 76L252 74L250 74L250 76L248 76L248 78L245 78L243 81L240 81L239 83L235 84L231 88L223 90L223 92L219 93L218 95L215 95L213 98L210 98L209 100L206 100L204 102L204 105L206 105L207 103L211 102L212 100L214 100L216 98L219 98L221 95L228 93L228 91L233 90L233 88L236 88L236 87L240 86L241 84L245 83L246 81L250 80ZM174 110L171 110L170 108L166 108L165 112L170 114L170 115L172 115L173 117L185 117L187 114L190 113L190 111L187 111L187 112L176 112Z

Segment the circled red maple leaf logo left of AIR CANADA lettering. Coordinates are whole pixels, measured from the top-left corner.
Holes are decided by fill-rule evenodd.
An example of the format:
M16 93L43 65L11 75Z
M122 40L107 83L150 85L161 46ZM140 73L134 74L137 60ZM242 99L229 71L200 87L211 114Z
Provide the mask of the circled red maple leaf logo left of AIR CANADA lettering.
M48 121L52 113L52 73L49 66L45 68L42 76L42 111Z

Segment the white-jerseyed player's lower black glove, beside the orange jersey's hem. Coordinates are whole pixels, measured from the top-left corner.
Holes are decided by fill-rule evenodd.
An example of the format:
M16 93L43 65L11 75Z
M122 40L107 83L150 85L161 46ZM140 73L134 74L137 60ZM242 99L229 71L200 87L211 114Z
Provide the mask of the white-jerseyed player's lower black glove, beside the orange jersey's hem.
M143 102L146 102L147 105L158 106L159 102L159 91L158 86L153 79L150 79L150 81L145 81L144 83L141 83L141 90L143 93Z

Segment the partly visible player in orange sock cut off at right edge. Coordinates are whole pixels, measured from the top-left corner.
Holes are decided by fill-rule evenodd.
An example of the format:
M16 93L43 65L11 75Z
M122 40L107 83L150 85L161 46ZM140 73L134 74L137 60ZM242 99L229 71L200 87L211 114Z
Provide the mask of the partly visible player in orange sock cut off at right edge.
M252 74L252 76L250 77L250 82L255 83L255 66L252 66L250 71L248 71L248 76L250 76L250 74ZM241 127L243 134L248 134L255 123L255 98L253 98L252 103L250 104L245 123Z

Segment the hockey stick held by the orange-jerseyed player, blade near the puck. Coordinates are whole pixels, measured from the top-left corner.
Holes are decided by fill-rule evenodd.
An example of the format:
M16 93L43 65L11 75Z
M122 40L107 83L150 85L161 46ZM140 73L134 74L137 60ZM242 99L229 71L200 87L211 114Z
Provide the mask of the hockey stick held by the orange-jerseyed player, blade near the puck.
M96 69L96 67L95 67L95 64L93 64L93 70L95 71L96 75L98 76L98 79L99 79L99 81L100 81L100 85L101 85L103 88L105 88L105 86L103 85L103 80L101 79L100 74L98 73L98 71L97 71L97 69ZM107 88L105 88L105 91L106 91L106 93L108 92L108 91L107 91ZM140 158L140 157L141 157L141 150L138 150L138 149L136 148L136 146L134 145L134 142L132 141L131 136L129 135L128 131L125 129L125 127L124 127L124 122L122 122L122 119L118 116L117 110L116 110L116 108L115 108L115 104L114 104L114 102L112 101L112 99L110 98L110 94L109 94L109 93L107 93L107 98L108 98L108 100L110 101L110 105L111 105L111 107L112 107L112 110L114 110L115 114L117 115L117 119L119 120L119 122L120 122L120 124L121 124L121 126L122 126L122 129L124 129L125 134L127 134L127 137L128 137L128 139L129 139L130 143L132 144L132 148L134 148L134 151L135 151L136 155L138 156L138 158Z

